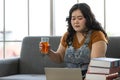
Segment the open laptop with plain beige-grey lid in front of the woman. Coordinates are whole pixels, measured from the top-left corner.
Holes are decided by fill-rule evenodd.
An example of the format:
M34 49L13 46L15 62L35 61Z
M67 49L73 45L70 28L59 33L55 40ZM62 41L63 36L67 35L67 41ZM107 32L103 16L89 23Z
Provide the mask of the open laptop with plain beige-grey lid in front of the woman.
M45 68L46 80L82 80L80 68Z

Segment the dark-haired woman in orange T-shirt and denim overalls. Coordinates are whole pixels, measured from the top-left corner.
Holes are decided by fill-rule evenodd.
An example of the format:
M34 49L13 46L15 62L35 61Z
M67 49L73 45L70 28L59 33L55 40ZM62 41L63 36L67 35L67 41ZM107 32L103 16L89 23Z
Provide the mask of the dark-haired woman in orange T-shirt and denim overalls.
M49 48L48 56L54 62L65 62L67 67L81 68L84 76L91 58L105 56L108 37L86 3L73 5L66 20L67 32L56 52Z

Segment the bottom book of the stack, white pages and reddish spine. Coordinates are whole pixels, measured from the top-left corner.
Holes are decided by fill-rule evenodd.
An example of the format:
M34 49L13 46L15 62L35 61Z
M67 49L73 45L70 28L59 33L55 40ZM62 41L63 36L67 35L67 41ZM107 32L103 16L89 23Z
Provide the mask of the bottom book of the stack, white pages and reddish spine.
M118 77L118 73L113 74L86 74L86 80L113 80Z

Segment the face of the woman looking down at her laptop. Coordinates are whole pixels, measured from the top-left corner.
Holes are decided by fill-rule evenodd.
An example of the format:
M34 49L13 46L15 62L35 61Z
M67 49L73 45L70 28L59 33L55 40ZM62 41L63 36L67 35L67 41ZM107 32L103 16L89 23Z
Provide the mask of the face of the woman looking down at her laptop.
M72 12L71 24L76 32L82 32L86 28L85 23L86 19L79 9Z

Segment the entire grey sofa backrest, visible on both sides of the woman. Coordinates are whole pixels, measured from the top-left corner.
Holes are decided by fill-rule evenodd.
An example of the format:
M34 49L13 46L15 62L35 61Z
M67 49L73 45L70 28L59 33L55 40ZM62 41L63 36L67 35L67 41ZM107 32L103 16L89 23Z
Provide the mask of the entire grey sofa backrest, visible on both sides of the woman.
M49 36L51 48L57 50L60 36ZM25 37L22 42L20 56L20 73L44 74L45 67L65 67L65 64L52 62L48 56L39 52L41 36ZM120 58L120 37L110 37L106 56Z

